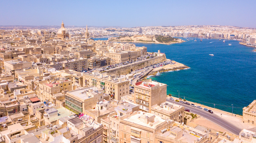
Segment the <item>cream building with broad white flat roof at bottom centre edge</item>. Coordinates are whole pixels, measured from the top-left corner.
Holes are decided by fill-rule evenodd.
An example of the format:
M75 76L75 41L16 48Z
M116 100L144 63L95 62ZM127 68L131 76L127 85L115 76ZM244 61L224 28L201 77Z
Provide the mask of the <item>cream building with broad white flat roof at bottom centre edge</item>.
M139 112L136 115L120 117L120 140L111 136L112 143L155 143L155 135L171 125L161 117Z

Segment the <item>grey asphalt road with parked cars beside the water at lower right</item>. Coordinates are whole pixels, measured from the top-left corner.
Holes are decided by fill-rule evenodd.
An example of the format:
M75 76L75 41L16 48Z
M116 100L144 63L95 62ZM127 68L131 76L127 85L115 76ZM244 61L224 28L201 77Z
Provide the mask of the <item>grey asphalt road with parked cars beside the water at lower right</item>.
M199 109L196 107L192 107L190 105L182 104L180 102L172 101L169 98L166 98L166 100L168 102L184 106L185 109L189 109L191 113L194 113L194 114L200 115L206 119L209 119L210 121L216 123L217 125L221 126L222 128L226 129L227 131L229 131L235 135L239 135L239 133L242 130L242 129L238 128L237 126L233 125L232 123L228 122L227 120L222 119L218 115L214 114L214 111L213 111L213 114L211 114L207 111L204 111L203 109Z

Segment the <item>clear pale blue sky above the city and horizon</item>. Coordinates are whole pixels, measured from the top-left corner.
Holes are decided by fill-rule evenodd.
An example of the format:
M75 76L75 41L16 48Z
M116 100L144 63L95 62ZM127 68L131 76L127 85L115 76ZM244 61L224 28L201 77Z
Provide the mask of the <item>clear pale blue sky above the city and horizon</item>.
M254 0L0 0L0 25L256 28Z

